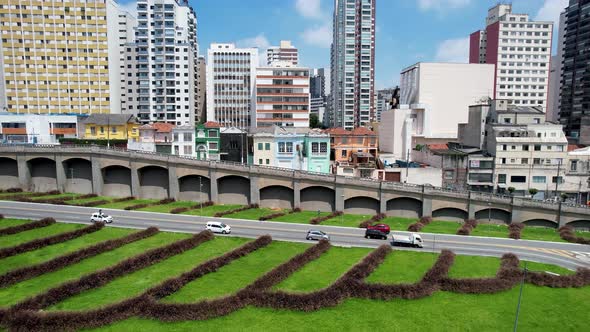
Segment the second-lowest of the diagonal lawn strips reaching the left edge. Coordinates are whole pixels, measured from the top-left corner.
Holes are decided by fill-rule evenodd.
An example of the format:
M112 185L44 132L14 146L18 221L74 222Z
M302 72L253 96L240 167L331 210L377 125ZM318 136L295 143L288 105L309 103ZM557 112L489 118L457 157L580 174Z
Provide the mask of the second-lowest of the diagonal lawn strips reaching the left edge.
M63 224L58 225L62 226ZM7 257L0 260L0 274L4 274L11 270L16 270L27 265L46 262L55 257L67 255L79 249L95 245L99 242L120 238L133 232L135 232L135 230L104 227L98 232L93 232L70 241L57 243L38 250Z

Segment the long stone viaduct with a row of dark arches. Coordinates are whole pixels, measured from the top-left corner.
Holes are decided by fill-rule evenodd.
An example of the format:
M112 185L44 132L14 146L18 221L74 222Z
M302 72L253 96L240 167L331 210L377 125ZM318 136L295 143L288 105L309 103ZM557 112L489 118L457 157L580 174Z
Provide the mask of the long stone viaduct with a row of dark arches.
M95 146L0 146L0 189L12 187L590 228L584 207Z

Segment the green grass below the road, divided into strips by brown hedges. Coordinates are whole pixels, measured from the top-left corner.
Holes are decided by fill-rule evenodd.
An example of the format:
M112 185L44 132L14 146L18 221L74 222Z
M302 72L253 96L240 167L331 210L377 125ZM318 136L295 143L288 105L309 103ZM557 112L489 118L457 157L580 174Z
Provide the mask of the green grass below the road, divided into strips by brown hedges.
M0 220L0 225L2 221ZM71 230L70 224L56 224L54 233ZM123 236L124 230L106 228L103 239ZM32 239L32 232L17 236L4 236L3 244L14 245ZM28 234L27 234L28 233ZM45 236L45 234L37 234ZM88 237L90 236L84 236ZM43 292L65 281L74 280L93 271L112 266L123 259L138 255L173 241L186 238L187 234L161 232L153 237L125 245L116 250L82 260L61 271L47 273L33 279L0 289L0 307L18 303L32 295ZM7 240L7 238L9 238ZM55 254L58 246L65 251L74 247L90 245L79 239L60 245L45 247L30 253L16 255L16 261L47 259ZM95 239L97 241L97 239ZM46 310L84 310L98 308L132 297L161 281L178 276L198 264L218 257L251 239L216 237L195 249L168 258L137 272L110 280L105 286L85 291L62 301ZM272 242L249 255L243 256L219 270L185 285L164 302L190 303L201 299L216 298L235 293L273 267L303 252L311 244ZM332 247L318 259L293 273L275 289L289 292L309 292L324 288L365 257L371 249ZM40 257L45 258L36 258ZM45 256L44 256L45 255ZM47 256L49 255L49 256ZM19 257L21 256L21 257ZM413 283L432 266L437 255L425 252L394 251L367 278L369 283ZM490 277L495 275L500 260L490 257L457 256L449 274L455 278ZM0 266L12 266L7 259ZM524 264L521 264L523 266ZM551 271L568 274L571 271L560 267L527 263L534 271ZM6 268L4 268L6 270ZM131 318L104 326L97 331L181 331L181 330L268 330L268 331L504 331L512 329L518 301L519 287L497 294L467 295L450 292L435 292L418 300L364 300L348 299L344 303L312 312L274 310L246 307L227 316L205 321L160 322ZM554 289L525 285L519 318L521 331L584 331L590 310L590 286L579 289Z

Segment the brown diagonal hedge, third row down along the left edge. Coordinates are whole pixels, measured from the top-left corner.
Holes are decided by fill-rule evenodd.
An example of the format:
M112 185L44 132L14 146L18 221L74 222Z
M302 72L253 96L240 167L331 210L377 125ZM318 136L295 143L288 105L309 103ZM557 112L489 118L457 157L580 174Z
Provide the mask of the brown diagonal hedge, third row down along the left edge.
M7 287L21 281L40 276L42 274L60 270L66 266L76 264L83 259L94 257L107 251L115 250L129 243L153 236L156 233L158 233L158 229L155 227L150 227L146 230L135 232L120 239L107 240L88 248L80 249L71 254L56 257L47 262L12 270L8 273L0 275L0 287Z

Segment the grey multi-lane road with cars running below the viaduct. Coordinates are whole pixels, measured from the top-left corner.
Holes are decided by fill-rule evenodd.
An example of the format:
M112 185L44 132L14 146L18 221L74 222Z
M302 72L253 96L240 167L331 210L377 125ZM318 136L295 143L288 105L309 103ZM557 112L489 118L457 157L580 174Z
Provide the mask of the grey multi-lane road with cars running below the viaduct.
M51 204L0 201L0 213L6 217L40 219L53 217L60 222L90 223L90 215L97 208L61 206ZM305 225L285 222L253 221L213 217L174 215L165 213L103 209L114 218L111 227L147 228L158 227L162 231L197 233L205 229L207 221L222 221L232 228L229 236L255 238L269 234L274 240L308 242L305 235L309 229L322 230L330 235L333 245L352 247L378 247L388 243L384 240L365 239L364 230L351 227ZM407 232L392 232L394 235ZM514 253L520 259L559 265L568 269L590 268L590 246L573 243L527 241L476 236L420 233L424 248L395 247L396 250L440 252L449 249L456 254L496 256ZM225 236L225 235L220 235Z

